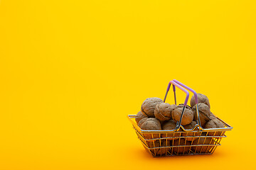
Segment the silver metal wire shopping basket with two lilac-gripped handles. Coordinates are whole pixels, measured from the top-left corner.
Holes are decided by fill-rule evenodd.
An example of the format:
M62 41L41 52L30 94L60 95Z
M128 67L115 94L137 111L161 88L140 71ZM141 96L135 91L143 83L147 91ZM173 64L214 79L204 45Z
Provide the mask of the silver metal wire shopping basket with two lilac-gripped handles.
M184 84L181 84L181 82L177 80L169 82L166 90L166 95L164 97L164 102L166 101L166 96L168 94L171 84L173 85L174 89L175 104L175 87L178 87L178 89L181 89L186 93L186 100L184 102L183 111L181 113L181 119L176 123L176 128L174 130L142 130L134 121L136 115L128 115L127 117L131 121L139 140L141 140L144 148L153 157L213 154L216 147L220 145L220 141L222 140L222 138L226 137L225 132L227 130L232 130L232 127L220 118L216 117L225 125L225 128L202 128L198 113L198 98L196 91L193 91L193 89L189 88ZM189 97L189 93L188 91L186 91L186 89L193 92L196 103L197 120L196 125L191 130L186 130L181 125L181 120L183 118L183 113L186 109L186 103L188 102Z

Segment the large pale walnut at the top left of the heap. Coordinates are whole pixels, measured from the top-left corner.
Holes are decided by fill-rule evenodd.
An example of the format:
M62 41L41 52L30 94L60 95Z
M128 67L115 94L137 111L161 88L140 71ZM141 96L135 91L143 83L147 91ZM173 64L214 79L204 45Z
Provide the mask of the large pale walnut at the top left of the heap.
M163 103L161 98L146 98L142 103L142 113L147 117L154 118L154 110L159 103Z

